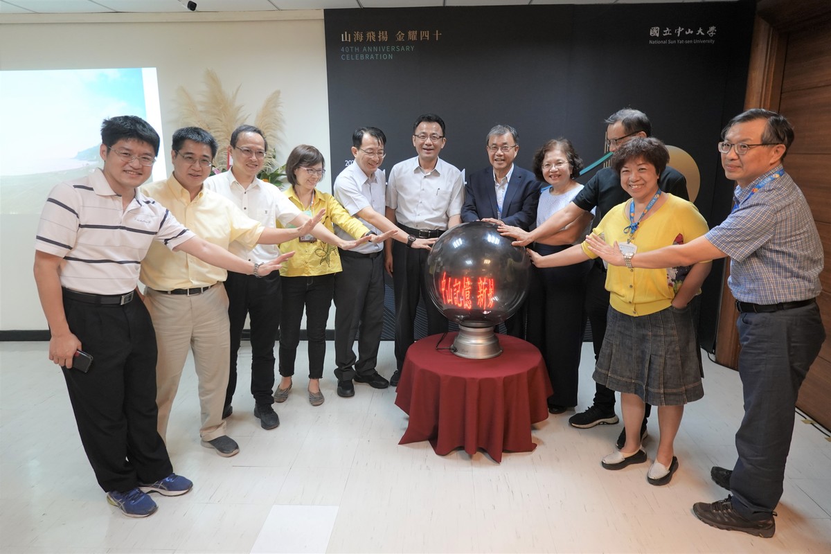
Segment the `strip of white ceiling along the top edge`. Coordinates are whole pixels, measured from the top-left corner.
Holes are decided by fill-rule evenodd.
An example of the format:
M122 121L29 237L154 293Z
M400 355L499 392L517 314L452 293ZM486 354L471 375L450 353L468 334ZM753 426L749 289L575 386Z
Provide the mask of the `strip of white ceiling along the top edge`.
M194 0L197 12L275 12L348 7L515 6L724 0ZM187 0L0 0L0 13L186 13Z

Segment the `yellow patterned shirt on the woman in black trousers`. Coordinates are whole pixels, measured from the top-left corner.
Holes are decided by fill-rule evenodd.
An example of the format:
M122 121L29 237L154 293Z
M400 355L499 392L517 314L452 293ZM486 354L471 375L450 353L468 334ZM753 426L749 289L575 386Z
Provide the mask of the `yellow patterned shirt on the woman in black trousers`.
M293 186L289 186L288 189L283 191L283 194L288 196L288 199L301 212L307 215L312 215L321 209L325 209L326 214L320 223L332 232L334 232L332 228L332 223L334 223L355 238L361 238L366 233L369 233L366 225L349 215L347 210L337 202L332 194L323 193L315 189L312 206L308 210L304 210L300 199L297 198L297 194L294 194ZM277 222L277 226L278 228L283 228L283 225L279 221ZM288 228L295 228L295 226L289 224ZM327 244L320 240L314 243L301 243L299 238L294 238L288 241L288 243L280 244L280 252L286 253L292 251L295 252L294 256L283 262L283 267L280 268L280 275L283 277L312 277L341 271L341 256L337 253L337 247L332 244Z

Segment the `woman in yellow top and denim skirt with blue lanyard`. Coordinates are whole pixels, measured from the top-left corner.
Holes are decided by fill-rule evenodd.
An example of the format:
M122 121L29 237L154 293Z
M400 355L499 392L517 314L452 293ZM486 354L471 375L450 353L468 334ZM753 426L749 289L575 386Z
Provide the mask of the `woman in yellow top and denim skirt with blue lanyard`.
M660 140L636 138L612 157L621 186L632 196L606 214L594 233L620 248L624 257L670 244L689 242L707 232L695 205L658 189L669 152ZM540 256L529 252L537 267L556 267L597 257L587 243ZM641 444L644 402L658 406L661 439L647 481L669 483L678 468L673 443L684 404L704 395L701 358L688 304L701 292L709 262L692 267L632 269L608 267L610 304L606 336L593 378L621 393L626 444L602 459L607 469L647 461Z

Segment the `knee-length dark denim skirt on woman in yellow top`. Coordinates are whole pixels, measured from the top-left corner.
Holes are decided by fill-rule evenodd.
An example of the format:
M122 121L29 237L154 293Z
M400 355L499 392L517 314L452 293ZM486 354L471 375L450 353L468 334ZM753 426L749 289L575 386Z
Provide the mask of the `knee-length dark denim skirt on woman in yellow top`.
M704 396L702 377L690 306L637 317L609 307L594 380L647 404L676 406Z

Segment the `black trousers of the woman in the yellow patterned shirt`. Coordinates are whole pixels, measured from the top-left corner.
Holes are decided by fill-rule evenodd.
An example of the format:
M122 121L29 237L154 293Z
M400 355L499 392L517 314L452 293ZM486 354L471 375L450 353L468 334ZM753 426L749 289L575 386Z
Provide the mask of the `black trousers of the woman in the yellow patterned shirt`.
M300 343L300 322L306 310L306 332L309 353L309 379L323 376L326 357L326 322L335 274L310 277L280 277L283 281L283 310L280 315L280 375L294 375L294 360Z

